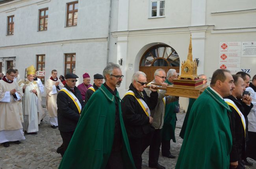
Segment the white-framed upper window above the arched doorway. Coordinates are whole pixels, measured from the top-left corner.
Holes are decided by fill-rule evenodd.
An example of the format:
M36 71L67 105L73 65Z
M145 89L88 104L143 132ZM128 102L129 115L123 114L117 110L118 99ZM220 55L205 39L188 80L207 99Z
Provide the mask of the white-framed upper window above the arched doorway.
M165 16L165 0L150 0L150 18Z

